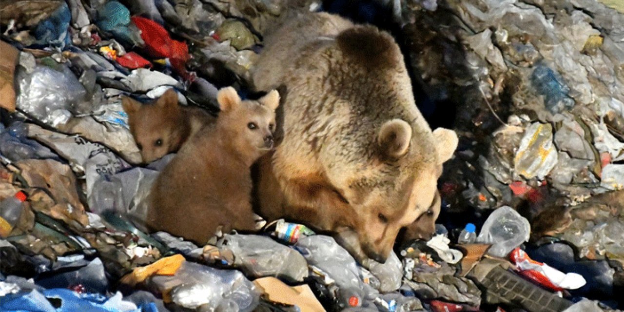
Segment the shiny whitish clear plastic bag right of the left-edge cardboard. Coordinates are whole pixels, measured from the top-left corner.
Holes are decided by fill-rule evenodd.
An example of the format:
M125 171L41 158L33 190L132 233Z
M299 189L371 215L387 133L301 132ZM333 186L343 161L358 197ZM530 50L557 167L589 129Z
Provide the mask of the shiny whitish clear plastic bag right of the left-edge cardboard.
M87 90L67 66L61 66L61 71L37 66L29 74L20 71L17 77L20 89L17 107L47 124L67 122L70 112L87 95Z

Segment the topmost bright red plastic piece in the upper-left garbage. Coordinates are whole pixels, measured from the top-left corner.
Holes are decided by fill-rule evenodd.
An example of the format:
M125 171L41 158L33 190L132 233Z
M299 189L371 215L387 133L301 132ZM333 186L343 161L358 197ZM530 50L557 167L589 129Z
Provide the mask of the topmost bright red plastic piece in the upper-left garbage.
M132 16L132 22L139 27L141 39L145 41L145 54L154 59L165 59L172 56L172 39L167 30L151 19Z

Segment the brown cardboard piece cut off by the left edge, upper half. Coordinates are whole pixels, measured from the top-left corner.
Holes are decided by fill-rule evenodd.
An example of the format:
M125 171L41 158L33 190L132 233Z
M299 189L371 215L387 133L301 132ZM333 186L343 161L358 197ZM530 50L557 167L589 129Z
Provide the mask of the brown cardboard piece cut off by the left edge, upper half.
M19 50L0 41L0 107L15 112L15 67Z

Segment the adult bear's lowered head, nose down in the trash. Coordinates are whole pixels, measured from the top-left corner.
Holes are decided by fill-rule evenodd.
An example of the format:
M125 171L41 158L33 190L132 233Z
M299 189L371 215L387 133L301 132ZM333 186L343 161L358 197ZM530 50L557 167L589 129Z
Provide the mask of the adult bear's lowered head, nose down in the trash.
M422 233L434 232L440 205L437 179L457 147L457 135L448 129L429 131L414 133L406 121L388 120L358 176L333 176L351 213L343 215L341 224L358 233L361 250L375 261L386 260L399 230L415 220L422 218Z

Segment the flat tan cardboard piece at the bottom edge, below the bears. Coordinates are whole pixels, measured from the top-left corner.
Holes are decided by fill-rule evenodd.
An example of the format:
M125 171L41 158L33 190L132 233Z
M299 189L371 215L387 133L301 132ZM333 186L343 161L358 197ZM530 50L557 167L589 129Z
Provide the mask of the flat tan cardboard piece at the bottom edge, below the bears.
M253 283L271 301L296 305L301 312L325 312L308 285L291 287L274 277L258 278Z

